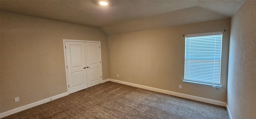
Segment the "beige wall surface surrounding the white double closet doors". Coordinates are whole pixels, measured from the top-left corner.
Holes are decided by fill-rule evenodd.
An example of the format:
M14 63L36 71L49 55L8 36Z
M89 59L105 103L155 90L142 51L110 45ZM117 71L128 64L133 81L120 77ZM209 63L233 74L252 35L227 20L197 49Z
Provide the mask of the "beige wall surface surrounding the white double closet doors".
M109 78L107 36L98 28L8 12L0 24L1 113L67 92L63 39L101 41L103 80Z

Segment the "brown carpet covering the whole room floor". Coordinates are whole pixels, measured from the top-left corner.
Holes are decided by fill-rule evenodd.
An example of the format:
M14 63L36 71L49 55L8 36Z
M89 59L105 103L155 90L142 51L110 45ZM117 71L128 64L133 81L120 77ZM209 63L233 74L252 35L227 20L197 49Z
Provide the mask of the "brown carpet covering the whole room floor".
M3 119L228 119L225 107L106 82Z

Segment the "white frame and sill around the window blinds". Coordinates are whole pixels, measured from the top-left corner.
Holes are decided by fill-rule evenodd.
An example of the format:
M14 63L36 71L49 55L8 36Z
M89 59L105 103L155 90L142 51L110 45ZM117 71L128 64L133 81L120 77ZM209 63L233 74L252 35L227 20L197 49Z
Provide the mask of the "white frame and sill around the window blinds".
M183 79L183 82L184 83L188 83L188 84L196 84L196 85L200 85L200 86L208 86L208 87L213 87L213 88L222 88L222 86L219 84L210 84L210 83L204 83L204 82L196 82L196 81L191 81L191 80L186 80L186 38L187 37L200 37L200 36L209 36L209 35L221 35L221 44L220 44L220 79L219 79L219 82L221 81L221 60L222 60L222 42L223 42L223 32L220 31L220 32L209 32L209 33L196 33L196 34L188 34L188 35L185 35L184 38L185 38L185 54L184 54L184 79Z

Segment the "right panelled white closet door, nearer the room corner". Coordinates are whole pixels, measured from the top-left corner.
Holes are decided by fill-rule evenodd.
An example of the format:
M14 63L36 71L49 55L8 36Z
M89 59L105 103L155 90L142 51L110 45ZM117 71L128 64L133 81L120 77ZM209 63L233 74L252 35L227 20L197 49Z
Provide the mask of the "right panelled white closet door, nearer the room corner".
M88 87L101 83L100 43L85 43Z

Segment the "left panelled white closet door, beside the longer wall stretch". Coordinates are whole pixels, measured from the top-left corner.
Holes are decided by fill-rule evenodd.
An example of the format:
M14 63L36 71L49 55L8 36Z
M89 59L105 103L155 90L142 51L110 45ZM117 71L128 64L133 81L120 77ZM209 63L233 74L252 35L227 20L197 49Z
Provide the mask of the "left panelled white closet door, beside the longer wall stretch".
M85 45L83 42L65 42L69 92L87 88Z

